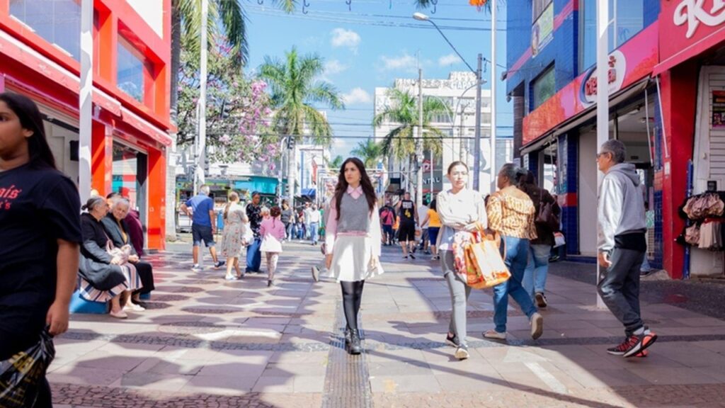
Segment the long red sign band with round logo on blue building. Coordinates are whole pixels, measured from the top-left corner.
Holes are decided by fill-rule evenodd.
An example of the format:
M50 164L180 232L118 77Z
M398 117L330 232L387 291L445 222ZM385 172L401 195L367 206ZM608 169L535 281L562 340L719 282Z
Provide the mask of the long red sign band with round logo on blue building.
M610 54L610 70L613 69L613 72L609 75L609 91L626 89L649 76L657 61L658 23L653 23ZM591 82L591 78L595 77L593 72L589 70L581 74L523 118L524 145L534 142L592 106L589 99L596 98L597 89L597 84Z

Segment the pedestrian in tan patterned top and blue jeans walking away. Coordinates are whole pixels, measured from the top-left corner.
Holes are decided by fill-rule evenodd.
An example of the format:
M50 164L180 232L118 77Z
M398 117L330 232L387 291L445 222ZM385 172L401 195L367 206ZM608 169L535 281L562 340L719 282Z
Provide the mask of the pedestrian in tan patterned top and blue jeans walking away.
M529 261L529 242L536 239L537 230L534 226L536 210L534 203L516 187L521 169L512 163L502 166L496 184L499 190L489 197L486 214L489 229L501 235L502 248L505 249L504 262L511 273L506 282L494 286L494 323L496 327L484 333L485 338L505 340L506 321L508 319L508 297L513 298L531 324L531 338L536 340L544 331L544 318L537 311L529 293L521 285L523 271Z

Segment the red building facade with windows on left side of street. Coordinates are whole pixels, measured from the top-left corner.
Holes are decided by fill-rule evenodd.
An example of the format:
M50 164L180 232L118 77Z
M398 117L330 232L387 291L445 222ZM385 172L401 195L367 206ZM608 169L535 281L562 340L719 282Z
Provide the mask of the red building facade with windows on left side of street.
M91 187L130 198L163 249L171 0L94 0ZM0 91L38 103L59 168L78 182L80 0L0 0Z

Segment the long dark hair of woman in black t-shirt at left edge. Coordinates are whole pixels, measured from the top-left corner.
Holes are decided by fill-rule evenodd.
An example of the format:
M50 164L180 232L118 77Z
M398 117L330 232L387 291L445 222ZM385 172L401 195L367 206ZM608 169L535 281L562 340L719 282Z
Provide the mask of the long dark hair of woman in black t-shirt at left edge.
M32 99L20 94L3 92L0 101L20 119L20 126L25 130L33 131L28 137L28 152L30 153L30 166L56 168L53 152L50 150L43 126L43 116L38 105Z

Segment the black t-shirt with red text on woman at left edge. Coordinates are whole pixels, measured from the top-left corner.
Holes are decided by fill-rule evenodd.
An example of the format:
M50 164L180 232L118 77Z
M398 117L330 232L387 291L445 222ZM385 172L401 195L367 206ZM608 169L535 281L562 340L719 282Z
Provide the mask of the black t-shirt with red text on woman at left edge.
M57 240L82 241L75 184L30 164L0 171L0 360L32 345L45 325Z

